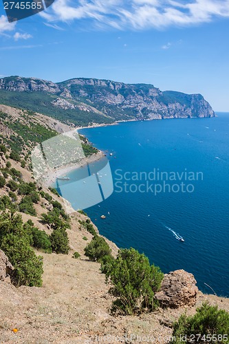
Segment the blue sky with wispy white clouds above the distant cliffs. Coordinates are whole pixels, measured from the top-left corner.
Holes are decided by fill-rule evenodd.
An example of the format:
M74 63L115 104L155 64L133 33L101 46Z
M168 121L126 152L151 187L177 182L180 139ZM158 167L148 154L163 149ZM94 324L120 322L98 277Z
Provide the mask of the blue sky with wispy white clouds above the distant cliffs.
M229 0L55 0L8 23L0 77L103 78L200 93L229 111Z

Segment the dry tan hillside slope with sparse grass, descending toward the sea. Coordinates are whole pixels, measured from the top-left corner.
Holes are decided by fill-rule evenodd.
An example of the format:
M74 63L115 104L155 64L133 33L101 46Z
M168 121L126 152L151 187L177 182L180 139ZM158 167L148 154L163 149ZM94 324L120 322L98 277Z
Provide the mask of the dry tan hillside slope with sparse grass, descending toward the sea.
M54 125L61 132L69 127L62 127L57 121L53 123L43 115L31 114L28 111L5 105L0 106L0 109L0 126L3 128L0 136L0 177L6 179L6 183L0 186L0 216L14 208L14 211L21 214L24 224L30 220L39 230L50 235L52 226L42 221L42 214L50 214L56 206L63 208L64 202L52 190L41 189L33 184L29 152L39 140L57 134ZM28 140L24 135L25 131L31 134ZM16 141L13 138L16 138ZM18 142L21 142L22 146L16 155L17 161L15 155L12 155L12 158L9 155L14 152ZM25 160L26 155L28 158ZM35 193L39 195L39 200L32 204L35 213L31 213L31 208L19 208L22 198L29 196L23 194L21 186L25 188L32 184ZM16 190L12 191L12 186ZM63 215L65 213L62 211L62 220L65 218ZM41 249L35 251L36 255L43 257L43 286L40 288L16 288L10 283L9 277L2 281L0 250L1 343L86 344L98 343L98 337L100 343L131 343L130 339L126 339L130 338L131 334L152 336L155 338L153 343L168 343L173 332L173 322L184 312L195 314L196 308L203 301L209 301L210 304L229 311L229 299L198 292L197 303L193 307L184 305L175 310L159 308L156 312L140 316L112 316L110 309L113 297L108 292L105 275L100 272L100 264L90 261L84 255L84 248L93 237L85 224L91 222L87 215L77 211L70 215L68 221L67 255L45 253ZM91 226L98 233L96 226ZM107 239L106 241L115 256L118 252L117 246ZM76 251L80 253L80 259L73 259L72 255ZM17 332L12 331L15 328Z

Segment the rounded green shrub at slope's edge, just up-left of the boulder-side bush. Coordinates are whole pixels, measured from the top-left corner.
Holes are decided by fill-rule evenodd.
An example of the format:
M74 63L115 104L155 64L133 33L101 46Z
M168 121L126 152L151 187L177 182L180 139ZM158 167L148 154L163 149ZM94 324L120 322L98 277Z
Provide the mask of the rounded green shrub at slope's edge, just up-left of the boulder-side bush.
M103 239L96 235L85 247L85 255L94 261L102 261L102 257L111 255L111 248Z

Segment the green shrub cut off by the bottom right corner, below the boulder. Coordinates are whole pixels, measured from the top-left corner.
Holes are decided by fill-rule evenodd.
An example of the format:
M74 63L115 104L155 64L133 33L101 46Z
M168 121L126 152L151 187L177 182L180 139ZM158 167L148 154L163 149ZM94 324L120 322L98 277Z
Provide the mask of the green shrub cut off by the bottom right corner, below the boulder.
M173 336L176 338L173 343L181 343L182 337L186 338L184 343L229 343L228 334L229 313L208 303L197 308L194 316L183 314L173 324Z

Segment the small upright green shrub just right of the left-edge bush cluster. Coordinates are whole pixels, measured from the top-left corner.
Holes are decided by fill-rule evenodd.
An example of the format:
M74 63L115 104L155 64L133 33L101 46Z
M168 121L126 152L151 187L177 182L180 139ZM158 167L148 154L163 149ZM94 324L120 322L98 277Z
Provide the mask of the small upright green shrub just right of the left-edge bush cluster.
M69 252L69 240L65 229L54 229L50 235L52 250L56 253L67 255Z

